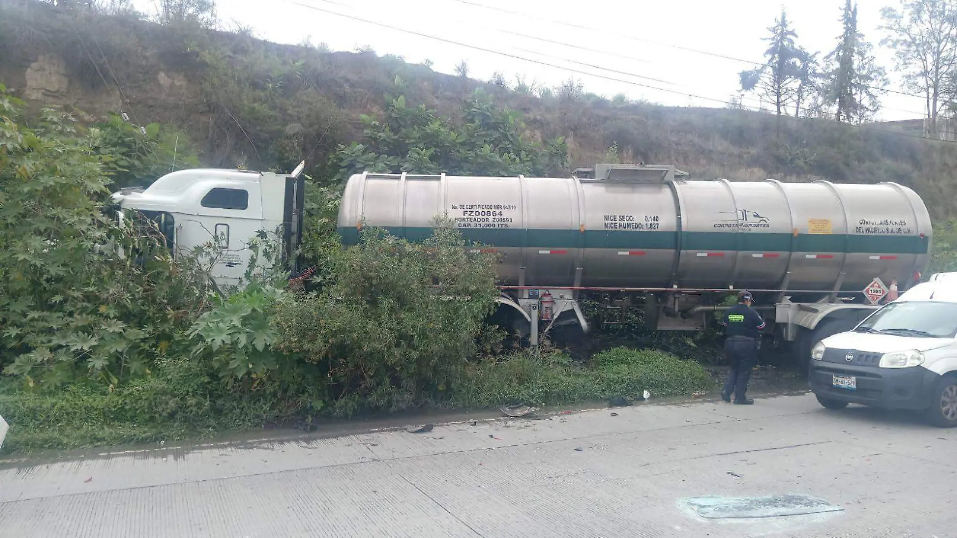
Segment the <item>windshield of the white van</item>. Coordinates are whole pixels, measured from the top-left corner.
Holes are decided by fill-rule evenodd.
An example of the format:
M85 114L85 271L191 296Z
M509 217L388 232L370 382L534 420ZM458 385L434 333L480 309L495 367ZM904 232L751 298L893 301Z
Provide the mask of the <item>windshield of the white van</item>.
M890 303L864 320L864 323L858 325L854 331L924 338L953 338L957 335L957 303L930 301Z

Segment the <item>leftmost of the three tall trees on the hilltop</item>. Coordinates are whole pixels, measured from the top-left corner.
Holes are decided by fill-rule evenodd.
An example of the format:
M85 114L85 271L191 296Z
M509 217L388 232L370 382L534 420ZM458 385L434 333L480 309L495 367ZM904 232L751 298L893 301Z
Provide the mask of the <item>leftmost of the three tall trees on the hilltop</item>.
M774 103L775 112L781 116L792 101L796 102L802 80L808 78L812 55L795 44L797 34L790 29L785 11L781 11L781 18L774 21L768 32L770 36L764 38L770 43L765 51L767 61L756 69L742 71L741 87L748 92L760 92Z

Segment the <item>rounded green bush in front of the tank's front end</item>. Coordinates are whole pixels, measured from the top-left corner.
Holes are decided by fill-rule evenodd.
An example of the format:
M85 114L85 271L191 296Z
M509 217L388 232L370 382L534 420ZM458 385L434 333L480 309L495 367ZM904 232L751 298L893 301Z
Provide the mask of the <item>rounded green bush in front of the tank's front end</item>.
M319 367L337 414L440 396L476 353L498 296L494 258L465 247L447 222L422 243L365 230L322 292L279 300L274 347Z

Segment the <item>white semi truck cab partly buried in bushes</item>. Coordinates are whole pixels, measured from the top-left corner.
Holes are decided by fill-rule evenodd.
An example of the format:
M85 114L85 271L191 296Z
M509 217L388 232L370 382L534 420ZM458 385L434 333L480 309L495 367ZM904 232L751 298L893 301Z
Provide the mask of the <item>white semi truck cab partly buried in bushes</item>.
M146 189L113 194L121 217L137 212L154 221L173 256L212 245L219 252L211 278L228 289L245 275L249 242L260 231L282 245L295 271L302 230L305 163L289 174L232 169L179 170Z

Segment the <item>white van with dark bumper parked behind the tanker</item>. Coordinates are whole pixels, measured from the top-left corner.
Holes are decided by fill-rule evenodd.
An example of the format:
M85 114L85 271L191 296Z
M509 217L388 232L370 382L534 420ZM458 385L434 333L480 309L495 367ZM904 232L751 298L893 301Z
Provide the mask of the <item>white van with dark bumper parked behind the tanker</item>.
M957 273L938 273L811 352L811 391L849 403L924 411L957 426Z

